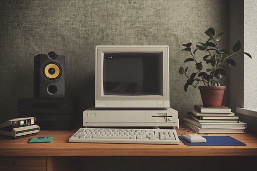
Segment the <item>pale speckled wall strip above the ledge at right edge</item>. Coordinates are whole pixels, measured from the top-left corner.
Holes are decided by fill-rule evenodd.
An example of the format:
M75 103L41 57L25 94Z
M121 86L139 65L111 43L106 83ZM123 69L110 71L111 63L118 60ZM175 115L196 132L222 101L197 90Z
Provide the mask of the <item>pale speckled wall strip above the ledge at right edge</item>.
M256 10L256 1L244 1L244 51L252 55L244 58L244 108L257 108Z

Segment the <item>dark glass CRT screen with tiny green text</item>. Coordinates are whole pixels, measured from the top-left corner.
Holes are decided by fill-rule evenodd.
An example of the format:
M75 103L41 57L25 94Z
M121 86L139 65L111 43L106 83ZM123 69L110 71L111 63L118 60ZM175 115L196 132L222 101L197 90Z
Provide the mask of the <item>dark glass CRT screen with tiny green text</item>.
M104 95L161 95L162 53L105 53Z

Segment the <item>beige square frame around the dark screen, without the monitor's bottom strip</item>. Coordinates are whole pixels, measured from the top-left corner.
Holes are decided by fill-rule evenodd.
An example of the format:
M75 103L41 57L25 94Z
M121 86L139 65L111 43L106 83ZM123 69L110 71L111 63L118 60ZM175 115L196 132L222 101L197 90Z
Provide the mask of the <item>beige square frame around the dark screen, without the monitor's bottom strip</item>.
M163 53L162 95L120 96L104 95L102 65L105 52L156 52ZM95 100L168 100L169 101L169 46L96 46Z

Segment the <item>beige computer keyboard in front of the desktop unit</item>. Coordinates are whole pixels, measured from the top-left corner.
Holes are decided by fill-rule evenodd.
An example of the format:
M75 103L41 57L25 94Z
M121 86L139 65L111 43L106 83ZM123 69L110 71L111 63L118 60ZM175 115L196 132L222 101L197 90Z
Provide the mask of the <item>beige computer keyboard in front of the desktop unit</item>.
M80 128L69 142L179 144L179 139L177 132L172 129Z

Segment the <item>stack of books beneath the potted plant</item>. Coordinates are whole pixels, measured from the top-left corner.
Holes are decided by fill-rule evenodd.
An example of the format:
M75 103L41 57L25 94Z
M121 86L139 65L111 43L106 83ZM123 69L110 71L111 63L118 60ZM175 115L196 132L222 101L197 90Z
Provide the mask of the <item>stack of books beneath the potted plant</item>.
M246 123L231 112L231 108L203 107L194 105L194 109L184 117L184 123L199 133L245 133Z

